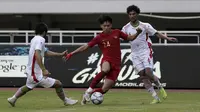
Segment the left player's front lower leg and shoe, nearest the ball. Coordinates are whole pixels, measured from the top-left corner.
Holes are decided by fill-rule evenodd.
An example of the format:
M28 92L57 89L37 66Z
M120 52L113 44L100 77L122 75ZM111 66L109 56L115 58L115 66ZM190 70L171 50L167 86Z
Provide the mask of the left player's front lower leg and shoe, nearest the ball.
M73 100L66 97L62 83L59 80L55 81L53 87L55 88L58 97L64 102L64 105L74 105L78 102L78 100Z

